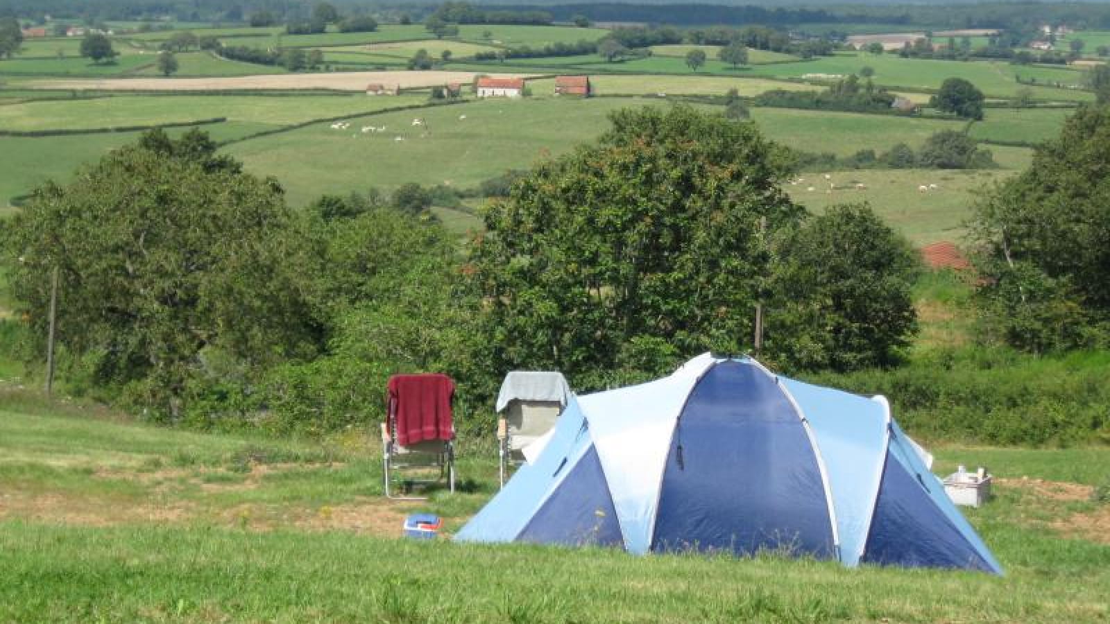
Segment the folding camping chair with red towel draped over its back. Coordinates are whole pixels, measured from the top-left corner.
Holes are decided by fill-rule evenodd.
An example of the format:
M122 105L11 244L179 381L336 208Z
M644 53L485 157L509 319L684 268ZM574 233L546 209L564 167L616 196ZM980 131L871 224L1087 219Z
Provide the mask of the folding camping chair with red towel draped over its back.
M391 491L394 473L414 475L406 484L433 484L446 477L455 491L455 425L452 402L455 384L447 375L393 375L389 383L389 410L382 423L382 462L385 495L402 501L423 496L396 496ZM417 477L438 470L434 479Z

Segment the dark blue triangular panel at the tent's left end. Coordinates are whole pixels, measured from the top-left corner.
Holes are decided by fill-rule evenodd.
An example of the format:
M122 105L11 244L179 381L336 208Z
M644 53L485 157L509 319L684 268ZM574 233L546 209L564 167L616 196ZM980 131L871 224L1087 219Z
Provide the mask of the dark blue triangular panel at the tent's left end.
M623 546L605 473L591 446L517 537L568 546Z

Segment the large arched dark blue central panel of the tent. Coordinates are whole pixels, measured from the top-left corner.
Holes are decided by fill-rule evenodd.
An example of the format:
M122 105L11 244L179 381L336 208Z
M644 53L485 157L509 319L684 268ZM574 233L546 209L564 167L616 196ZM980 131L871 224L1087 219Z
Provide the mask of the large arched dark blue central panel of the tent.
M664 469L653 551L836 555L817 457L766 372L735 361L698 381Z

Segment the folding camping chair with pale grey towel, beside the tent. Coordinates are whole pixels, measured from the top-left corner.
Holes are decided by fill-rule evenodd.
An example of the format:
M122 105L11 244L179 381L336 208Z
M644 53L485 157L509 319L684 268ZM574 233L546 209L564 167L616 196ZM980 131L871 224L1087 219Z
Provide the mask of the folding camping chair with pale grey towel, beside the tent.
M544 437L566 406L571 388L563 373L512 371L497 394L497 452L501 486L509 466L525 463L524 450Z

